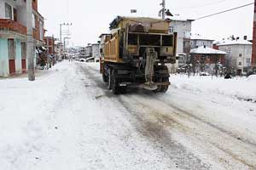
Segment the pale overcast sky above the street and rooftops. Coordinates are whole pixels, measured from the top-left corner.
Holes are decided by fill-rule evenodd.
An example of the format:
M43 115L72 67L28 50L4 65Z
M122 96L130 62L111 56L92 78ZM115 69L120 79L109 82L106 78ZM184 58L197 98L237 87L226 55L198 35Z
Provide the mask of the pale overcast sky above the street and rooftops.
M85 46L108 32L109 23L117 15L158 18L160 3L161 0L38 0L38 8L45 18L48 36L59 37L60 23L72 22L70 45ZM247 3L253 0L166 0L166 8L180 17L197 19ZM136 8L137 14L130 14L131 8ZM192 31L217 40L230 35L252 38L253 5L196 20Z

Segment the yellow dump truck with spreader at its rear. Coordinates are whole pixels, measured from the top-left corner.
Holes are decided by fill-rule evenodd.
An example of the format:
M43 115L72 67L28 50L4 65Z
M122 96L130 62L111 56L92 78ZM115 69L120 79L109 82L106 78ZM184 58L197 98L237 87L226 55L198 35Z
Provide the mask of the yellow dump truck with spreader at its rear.
M166 92L169 71L175 64L177 34L169 33L169 20L146 17L120 17L110 23L111 34L104 34L101 50L102 79L113 94L129 86L143 86Z

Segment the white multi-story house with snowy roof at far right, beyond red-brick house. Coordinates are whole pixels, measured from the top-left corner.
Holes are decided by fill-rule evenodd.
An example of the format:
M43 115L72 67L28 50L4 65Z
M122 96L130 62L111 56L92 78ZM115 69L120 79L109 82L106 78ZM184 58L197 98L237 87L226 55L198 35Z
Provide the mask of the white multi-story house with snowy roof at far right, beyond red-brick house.
M238 75L247 74L251 66L253 43L247 40L234 40L218 44L218 49L227 53L226 65L234 67Z

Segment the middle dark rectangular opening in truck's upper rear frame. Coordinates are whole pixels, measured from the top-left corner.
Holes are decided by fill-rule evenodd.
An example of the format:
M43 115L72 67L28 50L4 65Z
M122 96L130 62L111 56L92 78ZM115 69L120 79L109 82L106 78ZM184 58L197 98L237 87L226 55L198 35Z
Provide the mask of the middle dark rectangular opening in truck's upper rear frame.
M160 35L141 34L140 45L160 46Z

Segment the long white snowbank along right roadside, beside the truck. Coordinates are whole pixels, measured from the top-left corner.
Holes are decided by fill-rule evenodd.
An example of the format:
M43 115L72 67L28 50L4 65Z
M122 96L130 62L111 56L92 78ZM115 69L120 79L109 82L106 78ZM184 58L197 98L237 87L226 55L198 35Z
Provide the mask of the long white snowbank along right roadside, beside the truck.
M187 77L183 75L171 75L170 81L175 88L183 88L195 93L207 93L209 95L221 94L235 99L256 102L256 78L234 78L230 80L224 77Z

